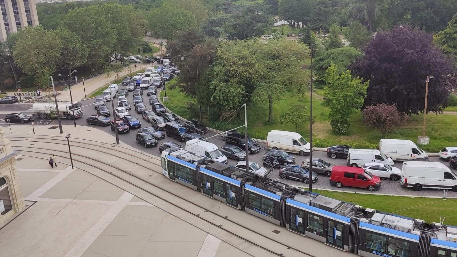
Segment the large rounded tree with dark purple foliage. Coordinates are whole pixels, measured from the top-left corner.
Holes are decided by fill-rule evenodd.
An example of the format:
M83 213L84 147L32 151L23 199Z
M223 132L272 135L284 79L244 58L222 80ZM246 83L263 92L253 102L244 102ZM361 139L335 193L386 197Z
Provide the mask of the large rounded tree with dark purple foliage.
M407 114L424 111L425 78L430 80L427 112L441 112L456 85L455 66L432 43L432 36L408 25L377 32L364 48L365 55L349 69L370 80L364 106L396 104Z

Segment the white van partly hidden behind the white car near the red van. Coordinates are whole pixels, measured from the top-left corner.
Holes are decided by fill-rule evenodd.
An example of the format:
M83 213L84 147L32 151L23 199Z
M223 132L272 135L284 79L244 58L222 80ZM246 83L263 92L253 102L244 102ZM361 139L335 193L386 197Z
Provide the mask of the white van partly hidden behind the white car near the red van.
M380 150L353 149L347 154L347 166L361 167L366 162L381 162L393 166L392 158Z

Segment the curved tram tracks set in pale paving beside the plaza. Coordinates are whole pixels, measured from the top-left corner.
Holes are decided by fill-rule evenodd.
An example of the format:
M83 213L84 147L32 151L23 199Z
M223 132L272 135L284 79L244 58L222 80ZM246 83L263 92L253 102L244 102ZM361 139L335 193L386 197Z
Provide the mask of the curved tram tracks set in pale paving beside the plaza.
M10 140L12 142L16 143L16 144L13 145L15 150L20 150L22 152L40 153L40 154L45 154L44 152L46 152L47 155L56 154L56 152L58 152L58 153L60 153L60 155L57 154L58 157L64 158L66 160L69 159L69 155L67 155L67 151L65 150L65 148L64 148L64 150L58 150L58 149L35 147L35 146L30 146L30 145L29 146L20 145L21 144L20 142L26 142L26 143L50 143L49 140L52 140L53 141L52 145L64 145L64 147L66 147L67 146L67 142L66 142L64 137L62 137L62 139L56 139L55 136L48 136L48 137L44 137L44 138L43 137L40 137L40 138L34 137L32 139L30 137L18 137L18 136L10 136L8 138L10 138ZM60 143L58 141L62 141L62 143ZM94 142L97 142L98 144L94 144ZM276 256L286 256L286 255L284 255L285 252L272 251L272 250L268 249L266 246L262 246L262 245L254 242L254 241L251 241L251 240L249 240L247 238L241 237L238 234L236 234L236 233L234 233L234 232L232 232L232 231L230 231L228 229L222 228L219 224L214 223L212 220L206 219L201 214L202 213L213 214L215 216L218 216L220 219L227 220L227 221L231 222L232 224L234 224L236 226L239 226L240 228L248 230L251 233L255 233L256 235L265 238L267 241L275 242L275 243L279 244L282 247L286 247L287 251L292 250L292 251L296 251L296 252L301 253L301 254L306 254L308 256L312 256L309 253L304 252L304 251L302 251L300 249L288 246L287 244L285 244L285 243L283 243L281 241L277 241L277 240L271 239L268 236L264 236L263 234L255 231L253 229L250 229L249 227L246 227L245 225L239 224L239 223L237 223L237 222L235 222L233 220L229 220L228 218L223 217L222 215L220 215L220 214L218 214L218 213L216 213L216 212L214 212L212 210L209 210L209 209L207 209L207 208L205 208L203 206L197 205L196 203L194 203L194 202L192 202L192 201L190 201L190 200L188 200L186 198L183 198L183 197L181 197L179 195L176 195L175 193L173 193L173 192L171 192L171 191L169 191L169 190L167 190L167 189L165 189L163 187L160 187L160 186L154 184L153 182L148 181L147 179L139 177L139 176L133 174L130 171L125 171L122 167L115 166L113 164L110 164L110 163L107 163L107 162L104 162L104 161L99 161L99 160L91 157L91 156L97 156L97 155L94 155L94 154L91 155L90 154L91 151L96 151L97 154L99 155L98 159L100 159L101 155L109 155L109 156L106 156L107 158L112 158L114 156L114 157L122 158L122 159L125 159L125 157L126 157L125 155L128 155L129 156L128 159L125 159L125 160L130 162L133 166L137 165L137 166L140 166L142 168L147 169L148 171L152 170L155 173L159 174L160 177L163 177L162 172L156 171L156 169L159 169L160 171L162 170L161 165L160 165L160 161L157 160L154 157L143 158L141 155L143 155L143 156L148 156L148 155L144 155L143 152L141 152L139 150L133 150L133 149L129 149L127 147L122 147L122 146L117 146L117 145L113 146L113 145L106 144L106 143L103 143L103 142L99 142L99 141L95 141L95 140L88 140L88 139L81 139L81 138L72 138L72 147L83 148L83 149L85 149L84 152L87 153L85 155L72 153L72 155L77 156L76 158L73 158L74 161L79 162L79 163L84 164L84 165L87 165L87 166L90 166L92 168L96 168L97 170L100 170L102 172L109 173L110 175L112 175L114 177L117 177L118 179L120 179L120 180L122 180L124 182L127 182L130 185L133 185L134 187L137 187L137 188L143 190L144 192L149 193L149 194L151 194L151 195L153 195L153 196L165 201L166 203L169 203L169 204L175 206L176 208L179 208L179 209L185 211L186 213L191 214L191 215L199 218L200 220L203 220L203 221L205 221L205 222L207 222L207 223L209 223L209 224L211 224L211 225L213 225L215 227L219 227L221 230L224 230L225 232L228 232L231 235L236 236L236 237L238 237L239 239L241 239L243 241L249 242L250 244L252 244L254 246L257 246L257 247L259 247L259 248L261 248L261 249L263 249L265 251L268 251L268 252L270 252L270 253L272 253L272 254L274 254ZM119 149L122 149L123 151L121 151ZM64 155L62 155L62 154L64 154ZM141 154L141 155L137 156L138 154ZM90 155L90 156L87 156L87 155ZM89 159L91 162L95 162L95 164L94 163L90 164L90 163L87 163L85 161L81 161L79 158ZM43 158L43 159L46 159L46 158ZM144 163L144 161L146 161L147 163ZM153 167L146 166L146 165L153 165ZM116 171L115 172L108 171L107 169L103 169L102 168L103 166L114 168L114 169L116 169ZM154 169L154 168L156 168L156 169ZM132 168L132 170L135 170L135 169ZM87 171L87 172L90 172L90 171ZM129 177L125 177L125 175L128 175L130 177L130 179L129 179ZM135 183L135 182L131 181L132 177L134 179L137 179L137 180L141 181L141 182L145 182L145 183L149 184L150 186L153 186L153 187L165 192L166 194L169 194L169 195L172 195L172 196L174 196L176 198L179 198L179 199L185 201L186 203L191 204L191 205L193 205L193 206L195 206L195 207L197 207L199 209L202 209L202 210L201 210L201 212L195 213L195 212L189 211L188 209L185 209L185 208L183 208L181 206L178 206L175 203L172 203L170 201L170 199L166 199L165 197L159 196L157 193L151 192L150 190L147 190L147 189L145 189L143 187L138 186L138 183ZM165 177L163 177L163 178L165 178ZM154 203L151 203L151 204L154 205ZM156 207L158 207L158 206L156 206ZM182 218L180 218L180 219L182 220ZM227 242L227 243L230 244L229 242ZM267 245L269 245L269 244L267 243ZM237 246L235 246L235 247L237 247Z

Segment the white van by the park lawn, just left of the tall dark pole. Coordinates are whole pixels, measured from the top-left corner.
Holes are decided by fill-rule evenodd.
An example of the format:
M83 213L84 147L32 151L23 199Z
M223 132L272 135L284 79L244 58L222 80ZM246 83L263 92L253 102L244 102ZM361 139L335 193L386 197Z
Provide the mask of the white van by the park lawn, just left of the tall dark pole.
M309 154L309 143L300 134L289 131L271 130L268 132L266 147L298 153L301 156Z

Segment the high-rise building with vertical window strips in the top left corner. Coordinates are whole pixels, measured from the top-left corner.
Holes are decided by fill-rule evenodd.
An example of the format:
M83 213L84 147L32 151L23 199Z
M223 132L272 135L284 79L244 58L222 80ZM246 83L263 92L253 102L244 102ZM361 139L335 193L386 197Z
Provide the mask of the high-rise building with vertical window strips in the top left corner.
M0 0L0 41L26 26L38 26L35 0Z

